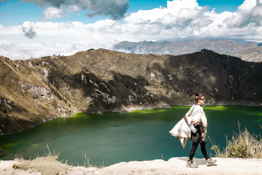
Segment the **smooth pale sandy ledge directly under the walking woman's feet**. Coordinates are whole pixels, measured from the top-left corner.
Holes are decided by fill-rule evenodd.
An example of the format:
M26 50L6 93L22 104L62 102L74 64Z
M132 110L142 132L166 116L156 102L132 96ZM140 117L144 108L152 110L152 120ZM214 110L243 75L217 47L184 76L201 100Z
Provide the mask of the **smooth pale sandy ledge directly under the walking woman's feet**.
M262 159L215 158L212 166L205 165L205 159L194 158L199 168L187 168L188 157L175 157L168 161L121 162L105 167L95 174L261 174Z

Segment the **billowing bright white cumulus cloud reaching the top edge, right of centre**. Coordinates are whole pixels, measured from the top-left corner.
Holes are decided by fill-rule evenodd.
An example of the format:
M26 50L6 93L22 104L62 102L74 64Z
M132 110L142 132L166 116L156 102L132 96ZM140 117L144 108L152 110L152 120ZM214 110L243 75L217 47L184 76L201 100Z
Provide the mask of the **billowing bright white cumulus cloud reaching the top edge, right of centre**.
M213 20L205 15L209 8L199 6L196 0L174 0L167 1L167 8L139 10L128 15L125 20L140 24L159 24L163 29L183 30L187 26L202 28L213 23Z

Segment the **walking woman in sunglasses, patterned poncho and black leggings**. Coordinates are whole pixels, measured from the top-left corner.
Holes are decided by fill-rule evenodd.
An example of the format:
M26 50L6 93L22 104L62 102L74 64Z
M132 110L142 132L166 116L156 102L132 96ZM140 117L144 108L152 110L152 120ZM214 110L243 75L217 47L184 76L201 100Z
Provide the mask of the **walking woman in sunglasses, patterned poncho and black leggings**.
M198 168L198 165L193 163L193 157L195 155L198 144L200 144L201 152L206 159L206 166L210 166L211 164L216 163L216 160L213 160L207 155L205 147L207 121L206 115L201 106L205 104L206 100L202 94L198 94L197 92L195 92L194 94L195 104L185 114L184 118L181 119L171 131L169 131L170 134L177 137L181 141L183 148L185 147L187 138L189 138L193 142L192 149L189 152L189 159L186 165L186 167L190 168ZM196 129L195 133L191 131L190 124L193 125L192 130L194 130L194 128Z

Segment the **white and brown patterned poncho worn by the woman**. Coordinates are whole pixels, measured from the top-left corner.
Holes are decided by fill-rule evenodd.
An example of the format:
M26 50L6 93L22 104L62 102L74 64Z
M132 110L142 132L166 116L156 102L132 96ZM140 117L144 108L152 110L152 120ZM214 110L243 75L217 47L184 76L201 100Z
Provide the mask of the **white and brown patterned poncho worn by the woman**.
M189 128L190 123L193 123L194 126L197 124L203 125L206 135L206 127L208 126L206 115L203 108L198 104L194 104L185 114L184 118L181 119L171 131L169 131L171 135L177 137L181 141L183 149L187 143L187 138L191 139L191 130ZM205 136L203 137L203 141L206 142Z

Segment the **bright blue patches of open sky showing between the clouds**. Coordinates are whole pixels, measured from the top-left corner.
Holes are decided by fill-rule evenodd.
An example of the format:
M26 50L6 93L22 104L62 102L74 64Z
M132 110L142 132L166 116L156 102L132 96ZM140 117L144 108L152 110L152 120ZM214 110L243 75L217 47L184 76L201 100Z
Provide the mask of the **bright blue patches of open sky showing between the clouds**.
M157 1L139 1L130 0L129 9L127 13L137 12L138 10L150 10L153 8L158 8L159 6L167 7L166 0ZM243 1L225 1L225 0L213 0L213 1L197 1L199 6L210 6L210 8L215 8L216 13L222 13L223 11L235 12L237 7L243 3ZM41 8L33 3L23 2L19 0L8 0L0 3L0 12L2 17L0 18L0 23L4 26L13 26L23 23L24 21L39 22L42 16ZM88 10L83 10L80 15L76 12L72 13L70 17L61 17L56 19L51 19L52 22L66 22L66 21L81 21L83 23L94 23L97 20L105 20L108 17L97 16L94 18L88 18L85 16L85 12Z

